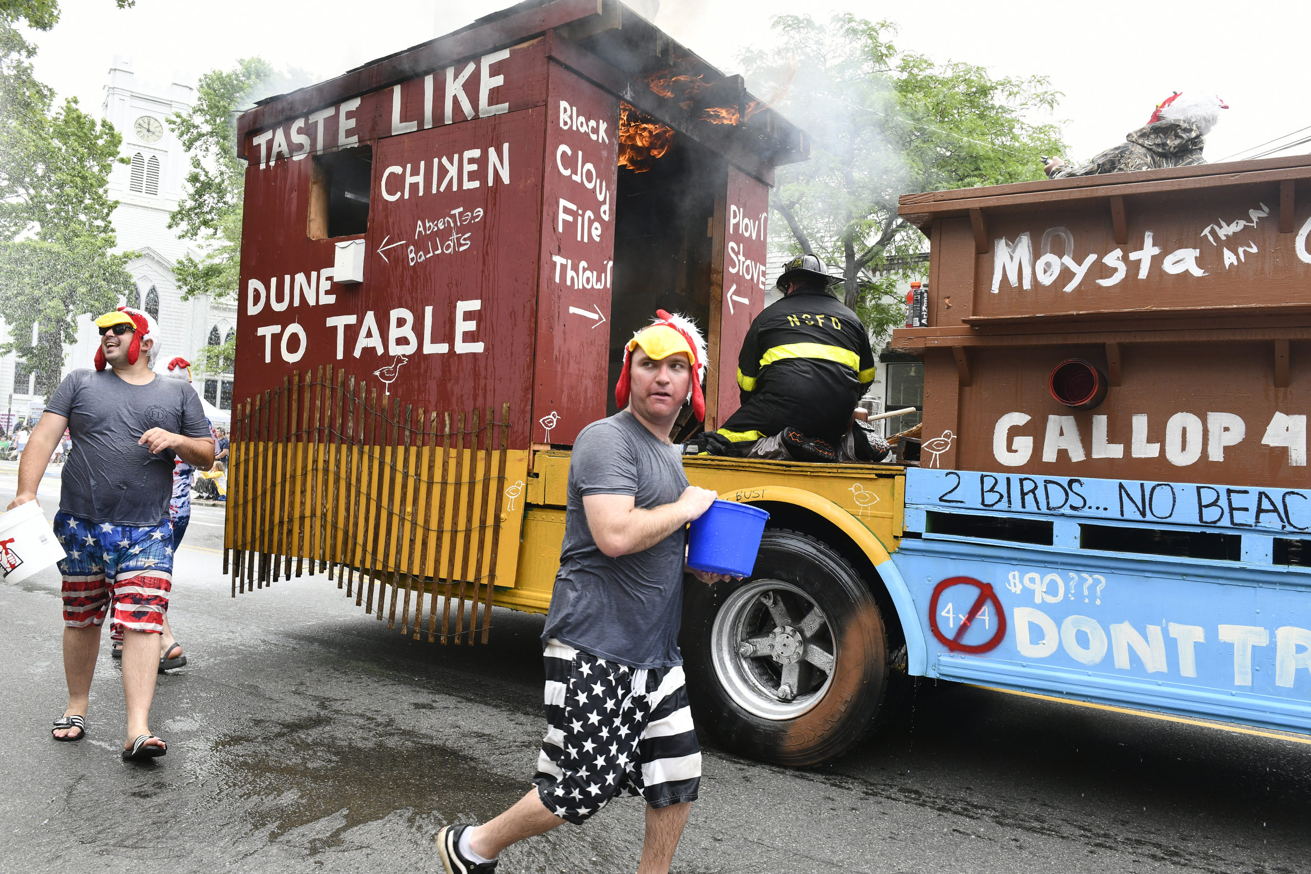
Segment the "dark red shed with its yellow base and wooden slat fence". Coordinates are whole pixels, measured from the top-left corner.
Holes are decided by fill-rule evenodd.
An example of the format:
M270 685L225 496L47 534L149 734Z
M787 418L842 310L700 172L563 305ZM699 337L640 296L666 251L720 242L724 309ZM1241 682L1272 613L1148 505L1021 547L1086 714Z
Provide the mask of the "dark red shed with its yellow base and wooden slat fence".
M562 503L534 451L615 411L657 309L707 334L705 427L738 408L773 168L809 142L623 3L527 0L261 101L237 151L233 592L308 560L347 594L367 577L370 609L391 584L392 616L404 587L404 626L444 580L460 639L465 587L490 604L526 525L562 527L526 523ZM675 438L699 427L688 409ZM544 609L534 586L497 603Z

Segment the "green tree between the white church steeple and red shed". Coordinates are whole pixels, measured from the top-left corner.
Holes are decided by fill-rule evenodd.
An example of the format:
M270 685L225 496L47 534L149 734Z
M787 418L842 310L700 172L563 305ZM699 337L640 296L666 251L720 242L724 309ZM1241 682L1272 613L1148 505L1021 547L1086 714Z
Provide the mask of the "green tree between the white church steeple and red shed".
M186 195L169 216L168 227L197 240L203 249L199 258L184 256L173 267L182 300L207 295L231 301L237 296L246 166L236 156L237 113L261 97L311 81L303 71L282 72L262 58L244 58L232 69L214 69L202 76L195 104L168 119L191 161ZM235 354L235 338L206 346L194 370L198 373L229 370Z

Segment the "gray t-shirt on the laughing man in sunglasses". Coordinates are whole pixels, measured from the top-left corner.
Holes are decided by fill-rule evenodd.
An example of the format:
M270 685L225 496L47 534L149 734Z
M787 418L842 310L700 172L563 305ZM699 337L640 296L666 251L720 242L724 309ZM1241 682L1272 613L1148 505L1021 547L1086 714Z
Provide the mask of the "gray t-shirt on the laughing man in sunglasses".
M153 427L210 436L195 389L159 375L132 385L111 370L77 370L59 384L46 411L67 417L73 438L59 508L88 522L156 525L168 519L173 452L151 455L136 442Z

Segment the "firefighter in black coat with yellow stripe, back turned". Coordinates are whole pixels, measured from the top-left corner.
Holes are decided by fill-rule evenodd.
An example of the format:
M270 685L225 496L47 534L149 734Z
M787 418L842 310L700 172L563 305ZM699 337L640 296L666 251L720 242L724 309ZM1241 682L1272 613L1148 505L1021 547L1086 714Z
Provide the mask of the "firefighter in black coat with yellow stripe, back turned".
M784 297L755 317L742 341L742 406L701 438L700 451L794 461L882 457L865 439L842 452L855 434L856 402L874 380L874 356L860 318L829 294L838 282L814 256L784 265L776 283Z

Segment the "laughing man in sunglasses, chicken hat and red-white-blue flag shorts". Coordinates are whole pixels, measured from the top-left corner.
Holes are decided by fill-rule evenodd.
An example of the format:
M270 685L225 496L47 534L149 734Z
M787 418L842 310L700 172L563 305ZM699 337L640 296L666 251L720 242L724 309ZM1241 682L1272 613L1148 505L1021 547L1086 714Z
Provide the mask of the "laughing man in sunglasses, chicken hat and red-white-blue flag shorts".
M123 634L127 735L123 759L163 756L151 734L160 638L172 586L168 503L173 459L208 468L214 440L195 390L151 370L160 354L155 320L121 307L96 320L96 370L76 370L59 384L18 466L18 495L37 499L50 453L67 427L72 456L64 465L54 532L64 546L64 676L68 706L55 740L87 736L101 625Z

